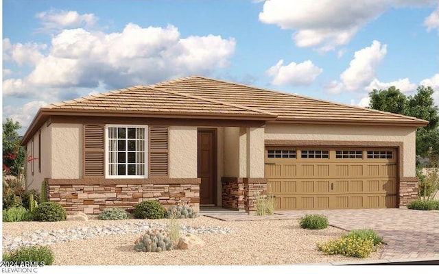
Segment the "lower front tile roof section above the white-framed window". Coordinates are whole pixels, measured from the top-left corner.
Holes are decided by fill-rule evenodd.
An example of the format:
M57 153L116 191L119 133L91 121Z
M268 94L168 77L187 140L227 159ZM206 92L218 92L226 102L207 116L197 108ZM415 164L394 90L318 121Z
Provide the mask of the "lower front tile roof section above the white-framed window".
M151 86L134 86L79 99L52 103L44 109L142 112L143 114L272 116L265 110L186 95Z

